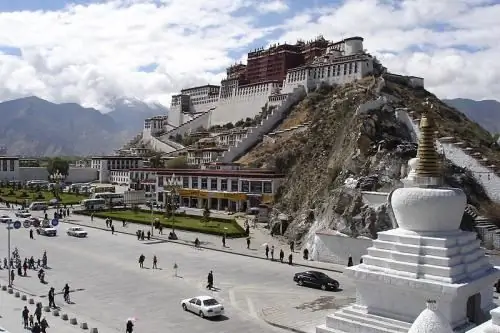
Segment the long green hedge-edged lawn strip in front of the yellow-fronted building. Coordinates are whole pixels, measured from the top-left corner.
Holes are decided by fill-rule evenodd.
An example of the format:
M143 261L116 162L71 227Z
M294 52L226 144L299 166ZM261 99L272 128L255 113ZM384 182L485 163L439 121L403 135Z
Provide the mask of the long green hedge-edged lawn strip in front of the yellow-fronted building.
M88 212L75 212L89 215ZM116 210L107 212L95 212L94 216L101 218L111 218L114 221L128 221L142 224L151 224L151 213L144 211L134 212L132 210ZM222 235L227 237L244 237L245 231L234 220L203 222L200 218L192 216L175 216L174 219L166 218L163 214L153 214L153 219L158 219L167 228L201 232L207 234Z

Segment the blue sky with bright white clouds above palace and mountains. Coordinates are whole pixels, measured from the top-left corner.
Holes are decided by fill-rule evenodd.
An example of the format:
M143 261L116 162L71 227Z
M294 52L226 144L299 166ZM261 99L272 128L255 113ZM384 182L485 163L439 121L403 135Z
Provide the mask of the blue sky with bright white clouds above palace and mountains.
M440 98L500 100L500 0L0 0L0 101L166 106L248 51L362 36Z

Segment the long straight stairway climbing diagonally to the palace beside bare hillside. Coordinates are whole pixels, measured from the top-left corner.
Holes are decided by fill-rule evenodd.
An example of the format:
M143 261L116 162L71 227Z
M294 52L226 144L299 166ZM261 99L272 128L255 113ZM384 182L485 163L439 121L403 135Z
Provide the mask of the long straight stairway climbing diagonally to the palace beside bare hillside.
M262 141L266 134L276 128L276 126L278 126L289 114L292 107L304 99L306 95L307 93L303 86L295 88L280 107L274 109L271 114L267 115L266 119L262 120L259 126L249 128L243 140L224 152L218 159L218 162L231 163L243 156L258 142Z

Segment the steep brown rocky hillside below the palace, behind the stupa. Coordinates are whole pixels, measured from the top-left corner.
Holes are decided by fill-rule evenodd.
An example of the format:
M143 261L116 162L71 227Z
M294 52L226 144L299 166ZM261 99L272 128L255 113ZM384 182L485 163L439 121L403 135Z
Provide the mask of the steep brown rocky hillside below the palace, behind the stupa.
M389 102L356 112L358 106L379 96ZM290 217L288 238L301 240L308 231L312 234L323 228L375 237L377 231L392 228L393 222L387 207L367 205L361 190L390 191L402 186L402 167L416 156L417 145L395 108L408 108L418 117L429 104L434 105L430 113L440 137L455 136L480 147L491 160L498 159L491 135L434 95L405 82L367 78L310 93L281 124L281 133L266 137L239 162L276 168L288 175L276 203ZM482 187L460 167L445 163L445 178L449 185L464 188L470 204L489 203ZM279 229L277 223L275 227Z

